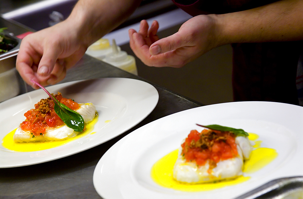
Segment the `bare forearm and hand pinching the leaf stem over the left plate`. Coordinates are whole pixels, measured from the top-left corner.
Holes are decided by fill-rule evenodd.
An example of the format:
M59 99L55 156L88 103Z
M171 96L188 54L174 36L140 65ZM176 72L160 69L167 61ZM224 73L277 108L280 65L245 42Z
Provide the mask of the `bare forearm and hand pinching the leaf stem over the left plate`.
M63 22L27 35L21 42L16 68L30 80L46 86L61 81L66 70L97 39L120 25L141 0L80 0Z

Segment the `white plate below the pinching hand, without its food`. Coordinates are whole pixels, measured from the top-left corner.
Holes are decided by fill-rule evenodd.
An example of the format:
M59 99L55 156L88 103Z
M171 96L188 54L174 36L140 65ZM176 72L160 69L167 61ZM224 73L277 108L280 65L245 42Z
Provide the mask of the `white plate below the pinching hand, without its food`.
M3 139L25 120L24 113L48 95L42 89L0 103L0 168L20 167L52 161L102 144L134 127L158 103L158 91L147 82L129 78L100 78L46 87L50 93L78 103L95 104L98 118L92 132L58 147L20 152L4 147ZM25 144L26 145L26 144Z

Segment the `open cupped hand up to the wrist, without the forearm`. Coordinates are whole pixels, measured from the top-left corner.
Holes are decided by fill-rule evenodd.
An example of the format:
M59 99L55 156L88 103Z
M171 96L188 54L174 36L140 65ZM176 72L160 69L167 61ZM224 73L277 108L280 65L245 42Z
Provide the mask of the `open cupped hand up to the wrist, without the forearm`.
M128 31L130 47L145 65L180 68L216 47L215 22L208 15L189 19L177 33L162 39L156 35L158 27L154 21L148 29L143 20L138 33L134 29Z

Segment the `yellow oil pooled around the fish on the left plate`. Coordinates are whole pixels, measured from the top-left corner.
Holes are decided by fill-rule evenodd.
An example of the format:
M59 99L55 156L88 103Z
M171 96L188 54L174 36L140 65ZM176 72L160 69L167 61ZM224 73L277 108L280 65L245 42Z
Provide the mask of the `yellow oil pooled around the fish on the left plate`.
M74 141L76 139L82 138L88 134L94 134L95 132L92 132L92 130L94 129L94 126L97 123L97 121L98 121L98 114L96 114L93 121L85 125L86 127L85 131L79 133L77 136L73 138L68 138L65 140L56 140L56 141L15 142L13 141L13 136L16 131L15 129L3 138L2 146L11 151L18 151L18 152L40 151L49 148L55 148L58 146L62 146L63 144L66 144L68 142Z

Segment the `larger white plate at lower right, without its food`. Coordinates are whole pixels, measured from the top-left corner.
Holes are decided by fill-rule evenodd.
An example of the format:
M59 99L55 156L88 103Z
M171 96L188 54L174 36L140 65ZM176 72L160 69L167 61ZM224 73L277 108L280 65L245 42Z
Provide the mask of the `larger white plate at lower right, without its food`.
M98 162L93 183L104 199L235 198L273 179L303 175L302 121L303 107L276 102L230 102L181 111L146 124L115 143ZM255 147L272 149L275 157L265 165L255 164L259 168L244 172L245 180L239 183L231 181L221 186L219 182L215 188L199 184L204 186L203 191L159 185L151 177L153 165L178 149L191 130L200 132L203 128L197 123L256 134ZM265 155L260 154L260 158L267 160Z

